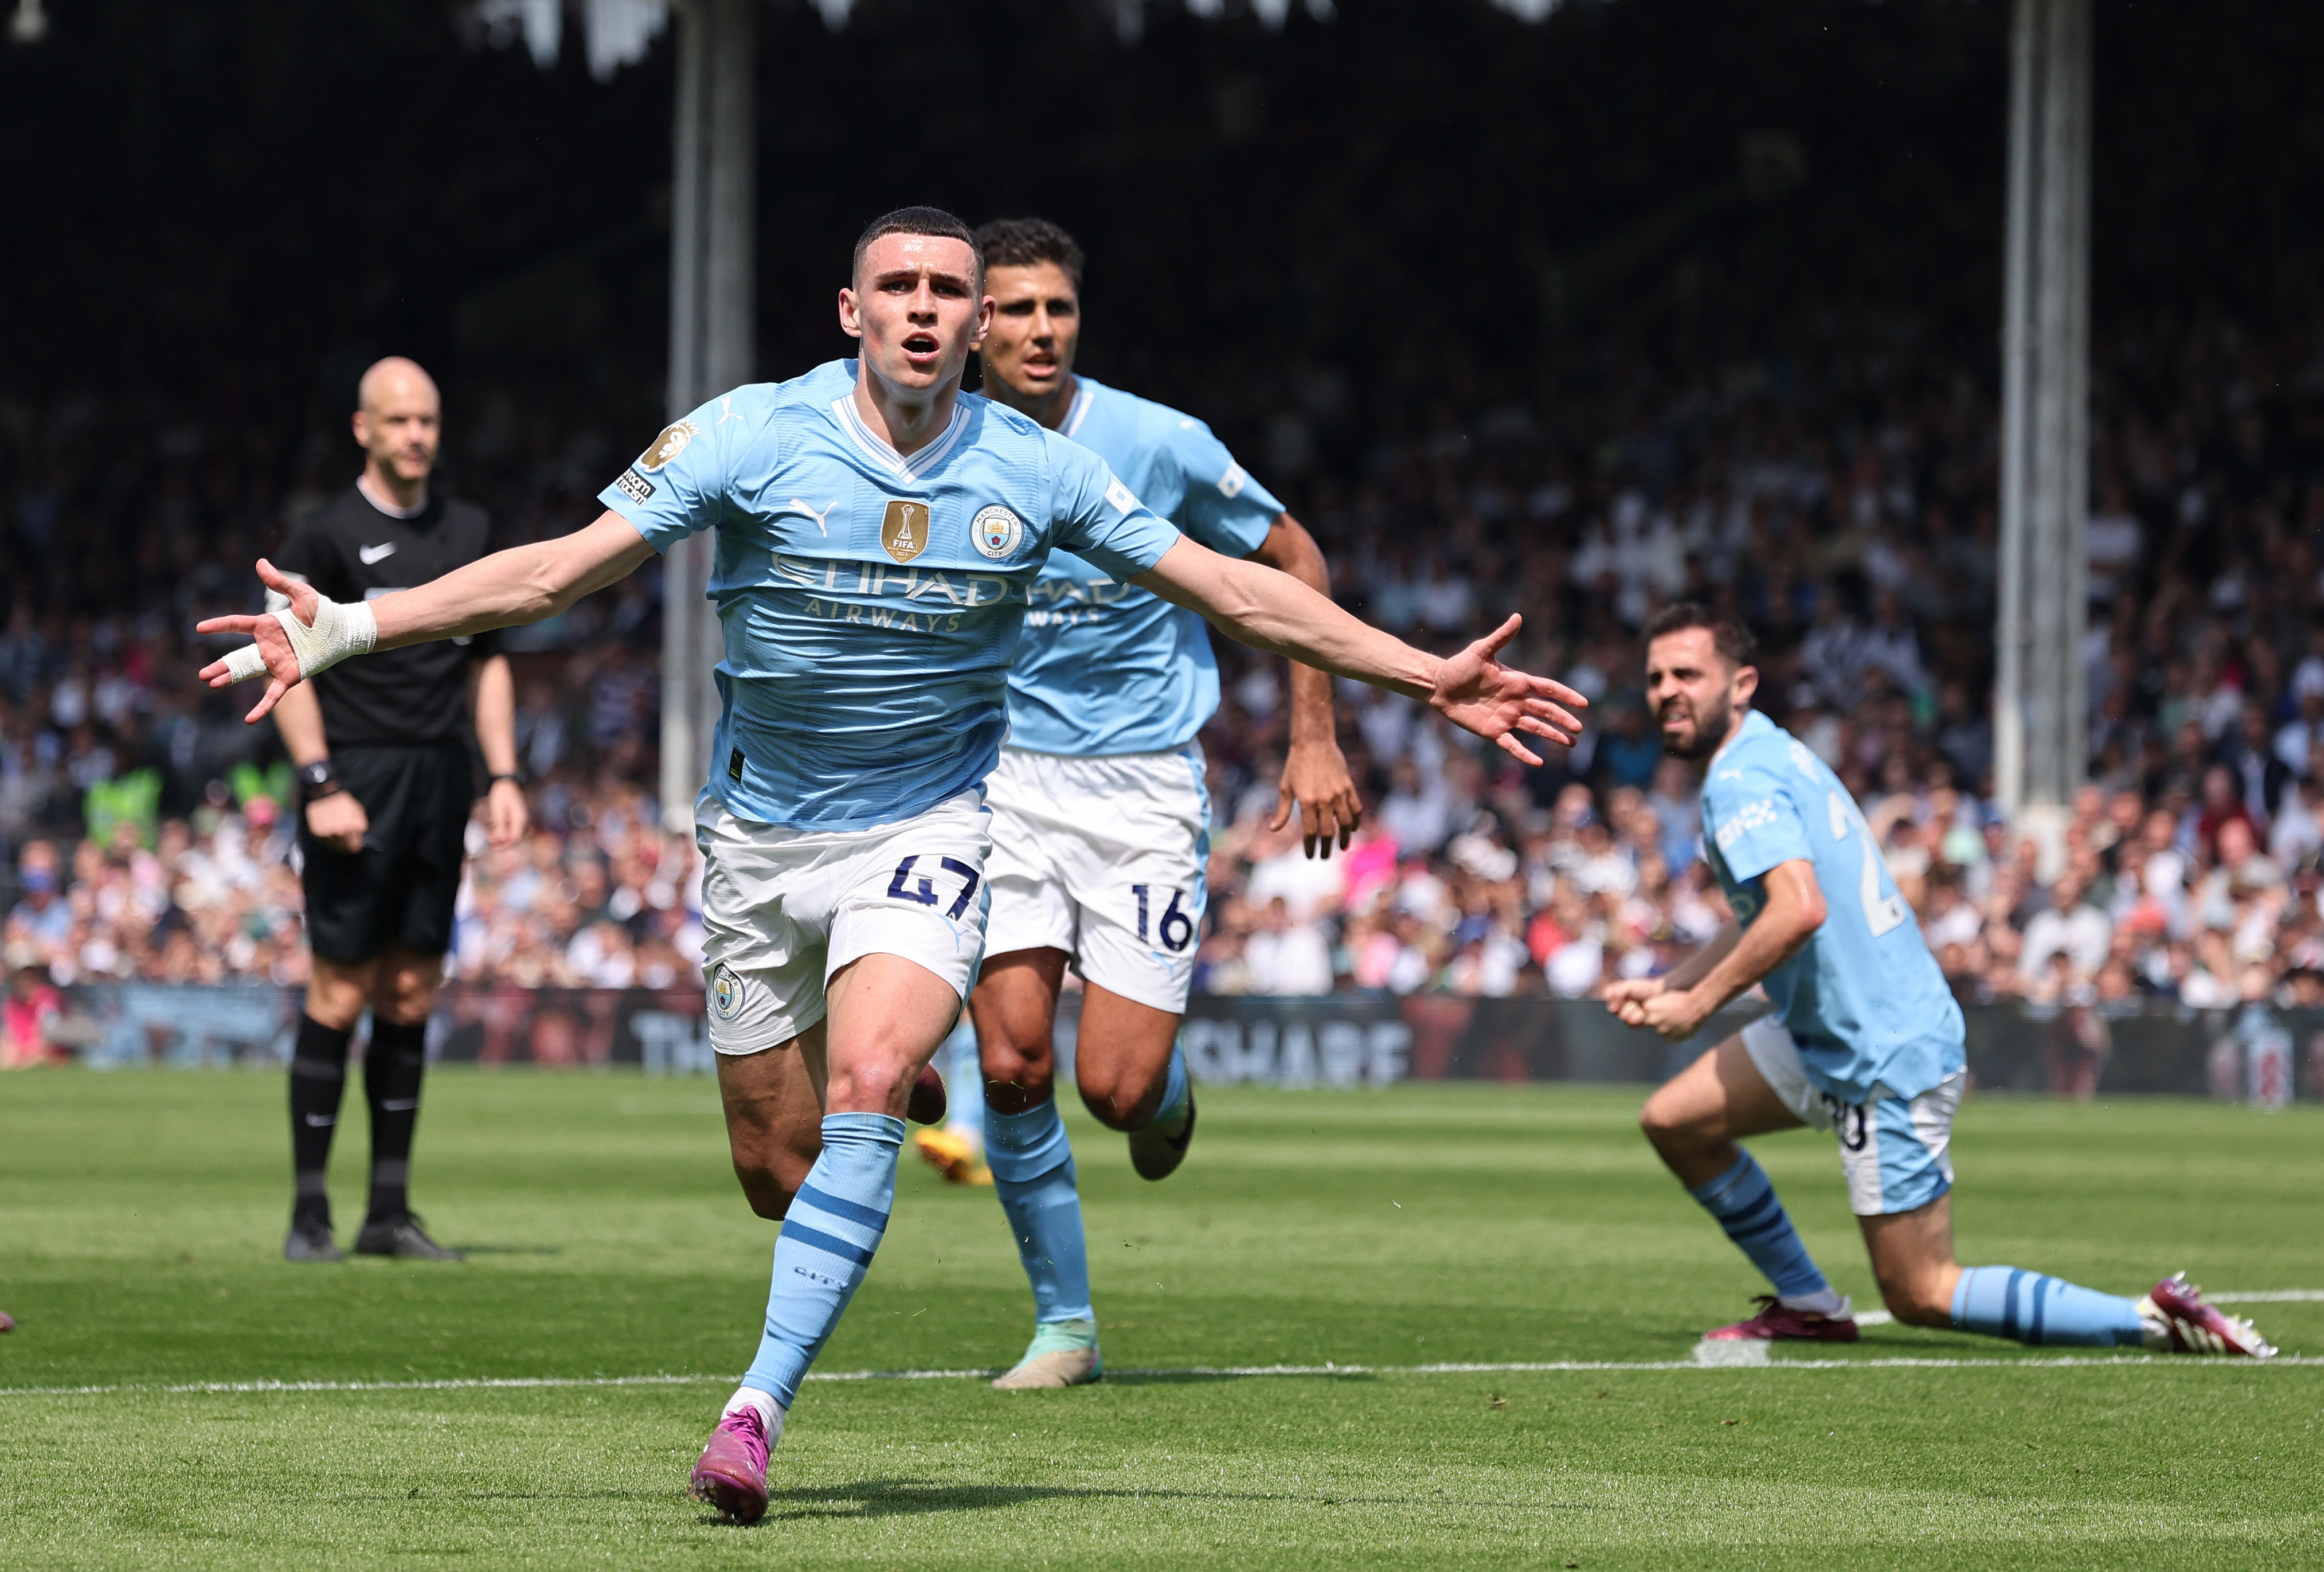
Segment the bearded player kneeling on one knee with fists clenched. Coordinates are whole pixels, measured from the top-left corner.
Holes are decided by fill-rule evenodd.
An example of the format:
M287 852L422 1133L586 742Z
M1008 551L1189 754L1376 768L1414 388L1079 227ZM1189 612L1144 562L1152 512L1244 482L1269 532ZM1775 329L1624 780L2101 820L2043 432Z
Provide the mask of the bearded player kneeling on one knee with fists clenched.
M1669 977L1615 981L1606 1007L1683 1042L1752 984L1776 1014L1745 1026L1645 1102L1641 1123L1687 1193L1766 1272L1750 1321L1713 1339L1855 1342L1848 1298L1808 1258L1750 1135L1838 1130L1848 1205L1873 1277L1908 1326L2024 1344L2275 1353L2185 1274L2143 1300L1952 1258L1952 1114L1966 1086L1961 1007L1889 879L1855 798L1750 707L1750 633L1699 605L1648 626L1645 691L1664 749L1703 765L1703 856L1734 919Z

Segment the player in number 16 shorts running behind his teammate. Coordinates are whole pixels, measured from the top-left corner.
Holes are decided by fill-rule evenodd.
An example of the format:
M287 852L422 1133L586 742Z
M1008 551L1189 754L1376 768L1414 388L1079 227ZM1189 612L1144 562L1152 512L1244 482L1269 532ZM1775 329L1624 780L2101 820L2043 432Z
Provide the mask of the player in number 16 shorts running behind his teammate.
M976 230L992 328L985 398L1106 460L1146 507L1213 551L1332 591L1315 540L1202 421L1074 372L1081 246L1055 223ZM1164 1179L1195 1137L1178 1016L1206 905L1211 800L1195 733L1218 709L1211 630L1188 607L1053 551L1009 672L1009 744L985 784L992 916L969 998L985 1072L985 1163L1032 1279L1034 1337L995 1386L1099 1374L1074 1151L1057 1119L1050 1032L1067 963L1081 974L1074 1079ZM1332 679L1292 665L1290 751L1274 828L1301 814L1308 856L1346 846L1362 805L1332 735Z

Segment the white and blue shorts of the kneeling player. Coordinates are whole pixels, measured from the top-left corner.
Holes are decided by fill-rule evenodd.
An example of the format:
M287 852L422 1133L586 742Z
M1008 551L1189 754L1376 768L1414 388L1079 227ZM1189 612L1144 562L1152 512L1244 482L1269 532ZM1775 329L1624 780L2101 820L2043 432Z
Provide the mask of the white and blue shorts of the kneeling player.
M1917 1098L1875 1086L1871 1102L1848 1102L1808 1081L1799 1044L1776 1016L1743 1028L1743 1051L1801 1121L1838 1130L1848 1209L1857 1216L1915 1212L1952 1188L1952 1116L1961 1109L1966 1070L1954 1070Z

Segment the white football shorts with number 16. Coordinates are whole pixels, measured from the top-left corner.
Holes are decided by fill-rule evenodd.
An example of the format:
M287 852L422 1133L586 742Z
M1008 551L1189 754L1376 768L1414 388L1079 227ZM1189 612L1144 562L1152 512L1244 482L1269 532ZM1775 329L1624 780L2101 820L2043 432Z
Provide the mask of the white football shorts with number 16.
M992 807L990 944L1062 949L1083 979L1185 1012L1211 891L1202 746L1116 758L1002 749Z

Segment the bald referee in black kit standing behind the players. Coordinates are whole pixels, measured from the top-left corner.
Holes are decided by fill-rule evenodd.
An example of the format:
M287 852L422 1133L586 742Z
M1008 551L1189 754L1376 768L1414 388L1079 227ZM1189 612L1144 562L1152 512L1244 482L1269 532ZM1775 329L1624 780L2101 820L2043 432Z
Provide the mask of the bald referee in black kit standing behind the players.
M390 356L356 391L363 477L290 530L277 565L332 600L425 584L486 553L481 507L428 491L442 437L437 386ZM274 595L270 593L270 609ZM414 644L349 660L274 707L307 812L300 853L314 977L290 1058L290 1167L297 1193L284 1260L339 1260L323 1170L346 1086L346 1039L372 1012L363 1095L372 1105L372 1202L358 1256L458 1260L411 1214L411 1126L428 1067L428 1012L451 949L451 907L476 800L476 742L493 774L495 846L525 835L516 784L516 691L493 635Z

